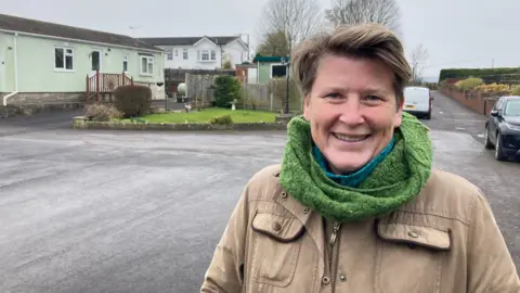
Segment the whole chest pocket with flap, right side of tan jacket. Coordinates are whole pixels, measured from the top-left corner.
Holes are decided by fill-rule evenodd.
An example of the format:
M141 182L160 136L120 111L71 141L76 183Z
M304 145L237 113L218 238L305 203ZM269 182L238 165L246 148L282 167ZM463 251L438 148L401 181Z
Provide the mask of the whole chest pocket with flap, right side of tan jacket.
M448 230L380 224L375 289L378 293L440 292L442 264L451 249Z

